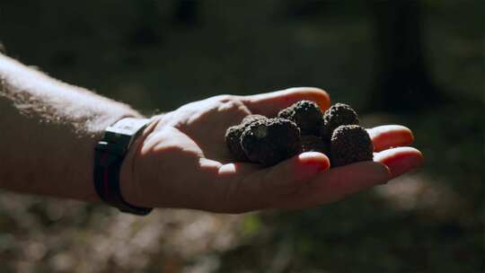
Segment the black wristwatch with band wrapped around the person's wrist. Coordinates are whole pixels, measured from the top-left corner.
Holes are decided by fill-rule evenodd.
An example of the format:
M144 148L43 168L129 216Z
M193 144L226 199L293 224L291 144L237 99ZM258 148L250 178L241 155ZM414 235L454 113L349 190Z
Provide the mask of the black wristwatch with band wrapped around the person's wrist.
M150 119L125 118L106 128L104 137L95 148L94 187L100 198L121 212L138 216L149 214L153 208L129 204L121 196L119 172L135 138L148 125Z

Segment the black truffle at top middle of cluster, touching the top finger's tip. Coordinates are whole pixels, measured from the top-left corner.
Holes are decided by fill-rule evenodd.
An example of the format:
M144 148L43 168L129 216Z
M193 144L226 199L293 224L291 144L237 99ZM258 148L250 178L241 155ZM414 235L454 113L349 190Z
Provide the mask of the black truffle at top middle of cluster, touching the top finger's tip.
M304 135L318 136L322 127L322 110L313 101L298 101L280 110L278 118L289 119L296 123Z

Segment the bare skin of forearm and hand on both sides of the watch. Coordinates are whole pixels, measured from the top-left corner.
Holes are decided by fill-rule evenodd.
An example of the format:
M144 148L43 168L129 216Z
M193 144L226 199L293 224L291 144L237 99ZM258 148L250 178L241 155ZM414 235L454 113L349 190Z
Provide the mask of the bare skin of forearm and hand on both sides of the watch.
M94 146L103 129L142 116L127 105L0 55L0 188L59 198L99 200L93 187ZM369 129L375 161L330 168L316 152L272 167L239 163L225 147L225 129L248 114L275 116L295 101L327 109L318 88L290 88L251 96L220 95L151 118L120 172L123 197L144 207L221 213L295 209L327 204L418 168L422 154L410 129ZM394 148L391 148L394 147Z

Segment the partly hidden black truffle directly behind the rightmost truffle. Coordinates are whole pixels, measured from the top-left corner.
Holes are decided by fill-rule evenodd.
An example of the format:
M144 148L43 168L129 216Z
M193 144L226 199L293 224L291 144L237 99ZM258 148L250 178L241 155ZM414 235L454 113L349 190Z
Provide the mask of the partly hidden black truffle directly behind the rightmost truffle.
M358 125L357 112L348 104L335 103L323 114L323 123L320 131L324 139L331 139L333 130L340 125Z

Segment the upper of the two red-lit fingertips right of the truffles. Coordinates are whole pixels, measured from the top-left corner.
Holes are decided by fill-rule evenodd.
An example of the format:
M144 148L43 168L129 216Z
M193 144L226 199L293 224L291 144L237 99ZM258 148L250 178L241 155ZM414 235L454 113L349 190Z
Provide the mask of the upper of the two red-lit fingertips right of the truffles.
M374 143L375 152L391 147L410 145L414 141L411 130L401 125L379 126L367 129L367 132Z

